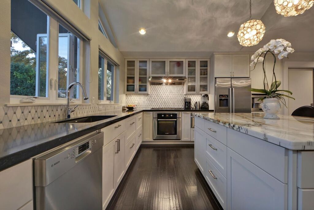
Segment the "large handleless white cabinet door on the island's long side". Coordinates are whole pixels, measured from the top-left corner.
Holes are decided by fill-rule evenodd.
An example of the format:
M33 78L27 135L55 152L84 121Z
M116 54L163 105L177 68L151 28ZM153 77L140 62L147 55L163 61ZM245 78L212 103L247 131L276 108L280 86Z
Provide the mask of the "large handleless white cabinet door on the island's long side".
M231 209L287 209L288 186L227 148L227 206Z

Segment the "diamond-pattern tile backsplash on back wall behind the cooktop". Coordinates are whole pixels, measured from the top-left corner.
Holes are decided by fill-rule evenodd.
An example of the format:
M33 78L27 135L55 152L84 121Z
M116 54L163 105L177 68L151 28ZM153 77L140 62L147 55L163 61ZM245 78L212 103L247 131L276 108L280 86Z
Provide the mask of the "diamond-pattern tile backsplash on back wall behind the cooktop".
M154 107L184 108L184 97L191 98L192 107L194 107L196 101L202 101L201 94L184 95L183 85L151 85L149 95L127 94L126 103L135 104L139 109Z

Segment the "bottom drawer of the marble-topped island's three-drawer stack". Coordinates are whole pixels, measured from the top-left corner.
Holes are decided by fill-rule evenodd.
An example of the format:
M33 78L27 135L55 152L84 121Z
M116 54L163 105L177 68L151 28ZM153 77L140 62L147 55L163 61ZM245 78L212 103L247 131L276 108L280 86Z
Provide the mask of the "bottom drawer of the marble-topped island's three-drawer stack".
M223 209L227 208L227 179L206 158L206 181Z

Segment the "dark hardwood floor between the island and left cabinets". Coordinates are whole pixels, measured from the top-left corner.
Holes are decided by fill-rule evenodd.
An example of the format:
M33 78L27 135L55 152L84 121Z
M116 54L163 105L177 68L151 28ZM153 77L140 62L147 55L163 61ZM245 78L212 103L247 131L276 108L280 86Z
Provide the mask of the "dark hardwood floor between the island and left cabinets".
M222 209L193 145L141 145L107 209Z

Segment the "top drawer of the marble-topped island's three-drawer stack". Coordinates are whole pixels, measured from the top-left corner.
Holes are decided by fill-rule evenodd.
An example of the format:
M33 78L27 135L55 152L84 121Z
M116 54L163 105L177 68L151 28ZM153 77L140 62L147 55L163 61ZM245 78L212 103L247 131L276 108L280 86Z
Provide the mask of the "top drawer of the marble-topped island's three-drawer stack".
M227 128L225 126L205 120L204 132L227 145Z

